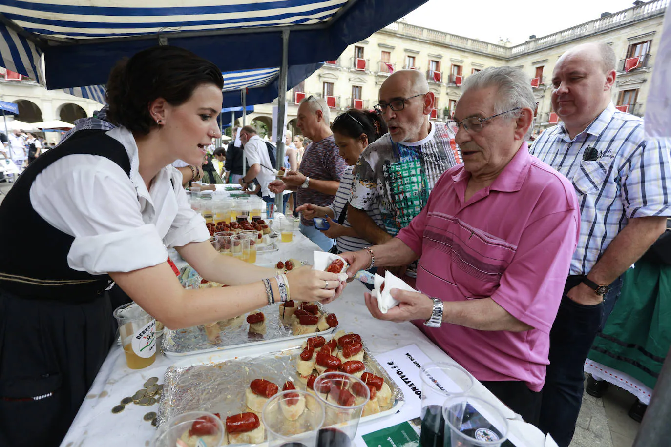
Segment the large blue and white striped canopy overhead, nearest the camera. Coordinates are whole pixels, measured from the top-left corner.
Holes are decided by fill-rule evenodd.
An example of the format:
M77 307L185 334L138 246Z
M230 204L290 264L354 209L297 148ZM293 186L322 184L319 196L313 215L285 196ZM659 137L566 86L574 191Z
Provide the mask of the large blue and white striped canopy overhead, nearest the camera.
M278 67L289 29L289 66L307 66L338 58L425 1L2 0L0 65L47 88L96 86L117 60L160 42L223 72Z

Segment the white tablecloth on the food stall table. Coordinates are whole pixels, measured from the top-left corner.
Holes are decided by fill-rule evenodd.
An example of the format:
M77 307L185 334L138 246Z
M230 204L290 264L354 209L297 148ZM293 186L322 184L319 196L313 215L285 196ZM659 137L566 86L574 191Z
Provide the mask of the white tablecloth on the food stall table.
M284 261L289 257L295 257L301 261L311 261L312 252L318 249L317 245L298 231L295 232L292 243L279 244L280 251L259 255L257 263L276 263L280 259ZM364 292L366 292L364 285L359 281L353 281L348 284L338 300L327 305L327 309L338 315L341 328L361 334L372 355L386 353L409 344L417 344L433 361L451 360L446 353L429 341L413 324L409 322L395 324L372 318L364 304ZM113 346L61 446L150 446L150 440L156 429L151 426L150 422L142 420L142 416L148 411L158 413L158 404L153 407L142 407L131 403L118 414L112 414L111 409L123 397L132 396L138 389L142 389L144 382L150 377L159 377L159 383L162 383L166 368L175 362L174 358L157 355L154 365L140 370L129 369L125 365L125 357L121 346ZM501 411L505 411L508 416L513 417L510 409L507 409L483 385L477 381L475 382L471 394L500 405ZM406 398L408 399L409 396ZM403 411L403 407L401 411ZM398 424L403 420L417 416L419 414L398 413L389 417L389 425ZM358 434L378 430L380 421L360 424ZM546 445L544 436L534 426L519 420L513 420L510 423L511 440L515 442L517 447Z

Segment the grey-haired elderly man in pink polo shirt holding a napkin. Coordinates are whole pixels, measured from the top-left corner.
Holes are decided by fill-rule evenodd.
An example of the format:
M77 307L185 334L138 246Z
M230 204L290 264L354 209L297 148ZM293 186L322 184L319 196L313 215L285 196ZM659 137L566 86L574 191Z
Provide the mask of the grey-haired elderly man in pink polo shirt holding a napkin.
M573 252L579 206L561 174L529 155L535 99L511 67L466 79L448 123L464 164L437 181L397 237L344 253L350 272L419 259L417 289L375 318L415 322L501 401L536 424L550 346Z

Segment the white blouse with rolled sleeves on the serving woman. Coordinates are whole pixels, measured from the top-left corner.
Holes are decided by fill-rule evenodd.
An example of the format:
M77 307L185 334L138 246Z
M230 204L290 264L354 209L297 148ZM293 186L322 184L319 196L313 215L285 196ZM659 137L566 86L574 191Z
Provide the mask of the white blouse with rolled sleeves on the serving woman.
M70 268L92 274L133 271L165 262L166 247L207 241L205 220L191 209L180 172L162 168L148 191L132 133L119 127L107 135L125 147L130 177L110 159L75 154L45 168L30 188L34 210L74 237Z

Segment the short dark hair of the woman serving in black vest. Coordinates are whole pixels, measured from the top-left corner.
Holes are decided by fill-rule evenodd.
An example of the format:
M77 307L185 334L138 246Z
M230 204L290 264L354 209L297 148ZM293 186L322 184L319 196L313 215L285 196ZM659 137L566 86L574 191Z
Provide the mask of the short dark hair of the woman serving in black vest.
M117 62L107 81L107 117L142 135L157 126L149 105L157 98L186 103L202 84L223 88L221 70L209 60L175 46L154 46Z

